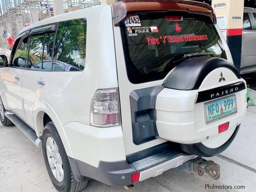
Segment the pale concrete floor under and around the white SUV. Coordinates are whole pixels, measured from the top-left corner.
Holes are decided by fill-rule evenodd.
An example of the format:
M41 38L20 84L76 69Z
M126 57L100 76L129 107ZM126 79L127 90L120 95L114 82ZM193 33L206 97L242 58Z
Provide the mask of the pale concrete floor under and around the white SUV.
M252 92L256 102L256 92ZM129 191L191 192L191 191L256 191L256 107L249 107L246 119L234 142L221 156L208 159L220 164L219 180L208 175L198 176L188 170L172 169L155 178L135 184ZM212 186L245 186L245 189L205 189ZM0 126L0 192L56 191L48 177L41 149L15 127ZM116 192L122 187L111 187L90 180L84 191Z

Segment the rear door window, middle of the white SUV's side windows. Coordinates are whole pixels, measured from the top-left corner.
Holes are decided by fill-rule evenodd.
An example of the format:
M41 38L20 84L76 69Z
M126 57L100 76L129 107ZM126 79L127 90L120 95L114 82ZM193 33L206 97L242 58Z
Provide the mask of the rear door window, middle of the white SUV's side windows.
M31 36L28 68L52 70L52 46L54 33ZM30 64L31 63L31 64Z

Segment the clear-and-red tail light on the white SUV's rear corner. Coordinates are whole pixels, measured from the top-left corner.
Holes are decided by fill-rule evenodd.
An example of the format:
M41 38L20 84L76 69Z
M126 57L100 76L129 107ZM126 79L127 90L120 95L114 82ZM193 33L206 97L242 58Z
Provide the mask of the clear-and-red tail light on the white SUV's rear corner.
M91 125L97 127L120 125L120 106L117 88L96 91L91 104Z

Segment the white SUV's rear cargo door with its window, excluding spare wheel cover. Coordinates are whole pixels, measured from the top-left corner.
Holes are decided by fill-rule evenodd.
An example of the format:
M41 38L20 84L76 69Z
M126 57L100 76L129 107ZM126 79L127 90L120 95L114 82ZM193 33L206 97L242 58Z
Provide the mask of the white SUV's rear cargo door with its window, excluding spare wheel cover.
M156 96L166 78L188 53L227 59L208 16L145 13L114 27L122 127L126 155L165 142L156 127ZM149 149L151 150L151 149Z

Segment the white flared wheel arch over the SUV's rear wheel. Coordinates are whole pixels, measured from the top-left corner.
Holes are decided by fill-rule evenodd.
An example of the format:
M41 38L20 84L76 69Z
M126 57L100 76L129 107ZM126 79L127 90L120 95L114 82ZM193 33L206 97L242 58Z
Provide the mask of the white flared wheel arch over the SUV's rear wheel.
M40 106L42 107L34 110L34 122L35 122L36 135L38 137L41 137L44 131L45 124L52 121L60 135L61 141L67 153L67 156L74 158L72 149L70 147L70 143L68 141L68 137L66 135L66 132L57 114L46 102L42 102L42 105Z

